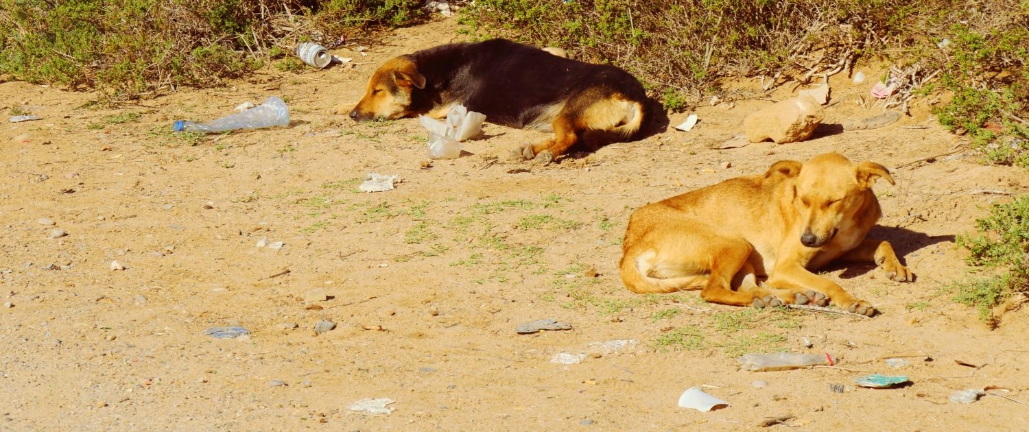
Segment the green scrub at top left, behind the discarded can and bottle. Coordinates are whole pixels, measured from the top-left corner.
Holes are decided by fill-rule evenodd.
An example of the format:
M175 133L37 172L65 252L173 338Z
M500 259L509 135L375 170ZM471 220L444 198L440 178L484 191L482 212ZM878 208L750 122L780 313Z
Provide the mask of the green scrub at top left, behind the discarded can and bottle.
M0 0L0 73L110 99L211 86L299 40L413 23L412 0ZM294 62L295 63L295 62Z

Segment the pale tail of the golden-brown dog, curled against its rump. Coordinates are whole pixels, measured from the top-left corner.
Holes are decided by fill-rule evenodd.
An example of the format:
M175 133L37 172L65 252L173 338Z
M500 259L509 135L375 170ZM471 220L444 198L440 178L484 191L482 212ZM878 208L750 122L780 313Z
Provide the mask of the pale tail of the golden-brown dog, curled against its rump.
M689 289L701 289L707 284L705 274L689 274L681 268L657 262L658 253L648 250L640 254L627 253L622 257L622 282L631 291L640 294L662 294ZM649 275L667 276L667 279Z

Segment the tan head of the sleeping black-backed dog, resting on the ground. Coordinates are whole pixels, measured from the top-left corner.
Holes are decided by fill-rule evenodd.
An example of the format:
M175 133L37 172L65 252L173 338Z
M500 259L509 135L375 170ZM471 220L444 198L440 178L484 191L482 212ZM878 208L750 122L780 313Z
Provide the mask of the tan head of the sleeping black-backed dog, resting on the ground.
M390 59L371 74L364 97L350 111L350 118L367 121L407 116L412 114L411 94L415 88L425 88L425 76L418 71L414 58Z

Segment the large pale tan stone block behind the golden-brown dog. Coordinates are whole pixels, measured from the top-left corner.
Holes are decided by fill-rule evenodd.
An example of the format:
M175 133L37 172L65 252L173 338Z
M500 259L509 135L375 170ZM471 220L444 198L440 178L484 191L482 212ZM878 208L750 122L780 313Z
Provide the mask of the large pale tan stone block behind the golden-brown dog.
M743 120L743 129L752 143L770 138L778 144L793 143L810 138L822 118L818 102L801 96L751 113Z

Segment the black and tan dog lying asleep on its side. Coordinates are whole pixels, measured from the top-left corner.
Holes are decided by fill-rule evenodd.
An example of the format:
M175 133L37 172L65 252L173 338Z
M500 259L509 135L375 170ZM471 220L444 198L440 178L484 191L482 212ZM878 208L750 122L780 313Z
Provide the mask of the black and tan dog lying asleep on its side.
M519 152L540 164L567 152L587 131L631 139L651 111L643 85L622 69L493 39L390 59L371 75L350 117L441 117L454 104L497 124L553 131L553 139Z

